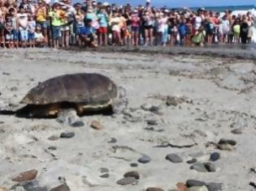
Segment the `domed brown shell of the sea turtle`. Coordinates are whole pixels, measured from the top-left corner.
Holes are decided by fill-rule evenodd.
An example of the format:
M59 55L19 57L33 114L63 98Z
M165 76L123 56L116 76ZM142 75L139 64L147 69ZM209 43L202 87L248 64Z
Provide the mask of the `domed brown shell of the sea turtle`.
M65 74L39 83L28 91L22 104L106 104L117 97L117 87L102 74Z

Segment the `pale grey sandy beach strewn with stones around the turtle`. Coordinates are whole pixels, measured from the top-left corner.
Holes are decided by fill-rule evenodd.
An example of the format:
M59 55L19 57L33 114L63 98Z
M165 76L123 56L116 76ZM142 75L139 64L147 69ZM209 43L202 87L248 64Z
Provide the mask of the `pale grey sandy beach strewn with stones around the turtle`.
M224 191L254 190L255 50L122 49L0 51L0 110L23 107L20 100L32 87L61 74L104 74L128 97L124 113L81 117L81 127L0 115L0 187L47 191L66 182L72 191L175 190L178 182L193 179L220 183ZM93 120L103 129L90 127ZM75 136L59 138L63 132ZM214 152L220 155L215 161ZM169 154L182 160L171 162ZM145 155L149 162L138 162ZM187 163L191 159L197 162ZM202 169L206 163L211 170ZM191 169L194 164L202 167ZM32 169L33 180L11 180ZM117 184L131 171L139 180Z

